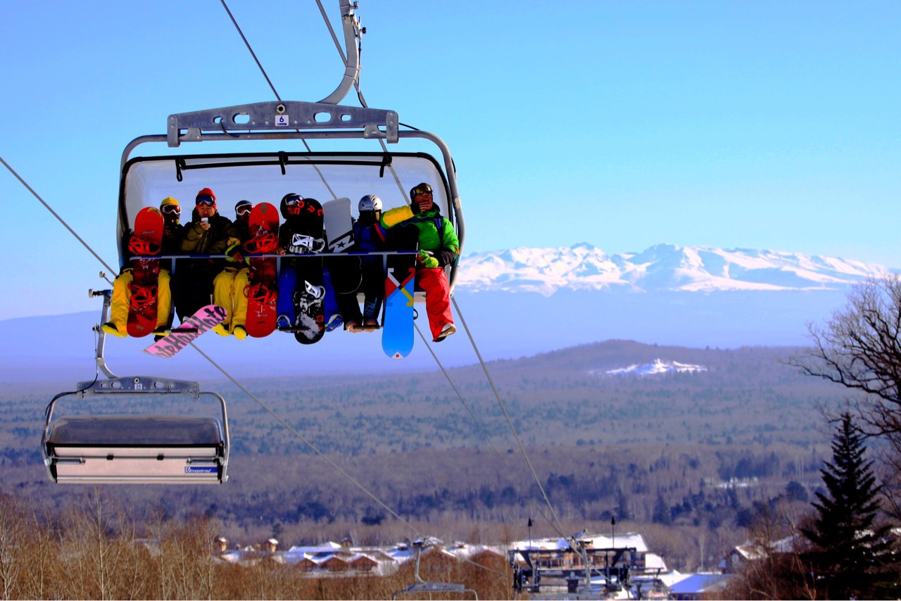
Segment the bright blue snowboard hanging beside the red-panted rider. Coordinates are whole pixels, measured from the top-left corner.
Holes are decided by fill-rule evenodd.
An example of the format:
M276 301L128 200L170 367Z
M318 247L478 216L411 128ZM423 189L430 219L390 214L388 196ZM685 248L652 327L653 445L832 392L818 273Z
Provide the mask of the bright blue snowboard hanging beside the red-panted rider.
M403 359L413 351L415 260L414 254L388 257L382 350L392 359Z

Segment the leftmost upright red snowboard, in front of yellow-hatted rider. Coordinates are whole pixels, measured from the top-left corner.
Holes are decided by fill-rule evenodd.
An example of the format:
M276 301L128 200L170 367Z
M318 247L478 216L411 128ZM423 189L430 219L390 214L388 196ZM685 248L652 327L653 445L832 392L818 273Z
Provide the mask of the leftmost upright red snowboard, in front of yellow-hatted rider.
M158 208L147 206L134 218L134 232L128 242L132 257L159 255L163 241L163 214ZM157 327L157 296L159 291L159 260L131 261L132 282L129 287L128 335L146 336Z

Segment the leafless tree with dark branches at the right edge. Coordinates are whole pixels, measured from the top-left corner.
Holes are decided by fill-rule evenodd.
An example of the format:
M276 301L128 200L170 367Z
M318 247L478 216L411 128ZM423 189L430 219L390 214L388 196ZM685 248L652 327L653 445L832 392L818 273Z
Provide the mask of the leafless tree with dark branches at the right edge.
M901 516L901 277L870 278L853 287L844 308L808 330L813 347L789 363L860 393L849 405L860 432L889 445L883 454L891 472L886 492Z

